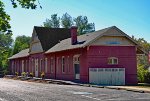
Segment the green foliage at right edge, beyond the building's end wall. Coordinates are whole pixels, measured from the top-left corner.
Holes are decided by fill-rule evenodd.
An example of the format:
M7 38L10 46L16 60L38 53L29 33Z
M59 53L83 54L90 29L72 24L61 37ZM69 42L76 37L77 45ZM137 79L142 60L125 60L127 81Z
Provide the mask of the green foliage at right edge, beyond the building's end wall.
M132 38L142 46L143 50L146 53L149 53L150 51L150 43L148 43L144 38L135 38L132 36ZM148 61L147 55L138 55L137 56L137 75L138 75L138 81L139 82L147 82L150 83L150 63Z

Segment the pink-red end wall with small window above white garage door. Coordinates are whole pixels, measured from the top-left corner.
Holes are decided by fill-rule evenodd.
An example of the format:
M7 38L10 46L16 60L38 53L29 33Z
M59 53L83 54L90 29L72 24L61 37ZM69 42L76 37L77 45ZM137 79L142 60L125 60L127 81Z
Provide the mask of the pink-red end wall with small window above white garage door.
M108 57L117 57L118 65L108 65ZM88 67L125 68L126 84L137 84L135 46L90 46L87 51Z

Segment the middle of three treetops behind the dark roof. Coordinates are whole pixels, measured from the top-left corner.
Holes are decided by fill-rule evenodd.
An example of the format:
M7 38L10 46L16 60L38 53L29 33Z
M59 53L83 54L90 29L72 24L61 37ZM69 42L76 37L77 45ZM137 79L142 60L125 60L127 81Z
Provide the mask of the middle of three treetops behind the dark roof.
M63 16L61 17L61 26L63 28L70 28L72 25L72 17L68 13L63 14Z

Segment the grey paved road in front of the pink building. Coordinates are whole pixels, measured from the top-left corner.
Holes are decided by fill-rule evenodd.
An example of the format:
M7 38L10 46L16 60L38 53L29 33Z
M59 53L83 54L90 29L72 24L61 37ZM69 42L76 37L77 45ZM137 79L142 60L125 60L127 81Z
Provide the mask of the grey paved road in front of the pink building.
M150 101L150 94L0 78L0 101Z

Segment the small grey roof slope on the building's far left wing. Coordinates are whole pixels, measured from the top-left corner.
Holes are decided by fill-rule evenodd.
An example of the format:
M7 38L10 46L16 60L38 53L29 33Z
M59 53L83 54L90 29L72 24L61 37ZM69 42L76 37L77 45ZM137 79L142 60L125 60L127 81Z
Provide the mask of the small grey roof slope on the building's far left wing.
M11 56L10 58L8 59L16 59L16 58L22 58L22 57L27 57L29 56L29 48L28 49L24 49L22 51L20 51L19 53Z

